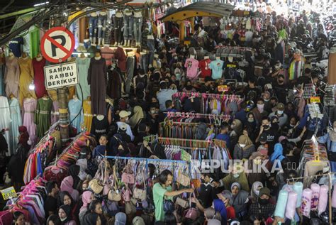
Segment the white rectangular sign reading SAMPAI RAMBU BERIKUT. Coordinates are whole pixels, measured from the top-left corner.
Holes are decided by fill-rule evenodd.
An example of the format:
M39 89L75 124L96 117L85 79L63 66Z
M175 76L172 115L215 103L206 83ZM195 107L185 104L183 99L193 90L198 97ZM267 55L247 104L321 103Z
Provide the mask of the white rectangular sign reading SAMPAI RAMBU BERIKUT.
M77 62L49 65L44 68L47 90L78 84Z

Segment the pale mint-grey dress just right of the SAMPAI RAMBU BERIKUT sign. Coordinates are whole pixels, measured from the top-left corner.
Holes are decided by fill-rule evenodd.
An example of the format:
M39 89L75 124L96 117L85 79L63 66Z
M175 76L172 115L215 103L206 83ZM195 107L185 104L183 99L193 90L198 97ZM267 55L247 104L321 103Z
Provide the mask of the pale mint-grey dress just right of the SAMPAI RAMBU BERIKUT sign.
M77 62L78 70L79 70L79 84L76 85L77 97L81 101L84 101L84 99L91 96L90 95L90 85L87 83L87 72L90 66L90 59L88 57L84 57L84 58L78 57L76 62Z

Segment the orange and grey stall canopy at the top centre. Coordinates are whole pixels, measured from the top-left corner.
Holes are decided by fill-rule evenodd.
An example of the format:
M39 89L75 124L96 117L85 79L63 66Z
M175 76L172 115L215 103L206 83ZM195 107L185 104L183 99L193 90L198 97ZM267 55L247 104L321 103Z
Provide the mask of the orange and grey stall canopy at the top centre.
M187 18L195 16L213 16L223 17L230 16L235 6L213 1L198 1L188 6L184 6L176 11L162 16L162 22L167 21L184 21Z

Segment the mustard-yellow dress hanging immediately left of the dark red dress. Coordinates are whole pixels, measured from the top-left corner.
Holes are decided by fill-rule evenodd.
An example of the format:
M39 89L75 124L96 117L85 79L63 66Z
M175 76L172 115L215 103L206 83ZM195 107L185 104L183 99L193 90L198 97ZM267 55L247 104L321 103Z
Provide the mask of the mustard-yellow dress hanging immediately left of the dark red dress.
M34 90L29 89L29 85L34 79L34 70L33 70L33 62L27 57L24 59L23 57L18 59L18 65L20 66L20 96L18 100L20 101L20 105L22 106L23 99L27 97L27 94L30 94L31 97L36 99L36 94Z

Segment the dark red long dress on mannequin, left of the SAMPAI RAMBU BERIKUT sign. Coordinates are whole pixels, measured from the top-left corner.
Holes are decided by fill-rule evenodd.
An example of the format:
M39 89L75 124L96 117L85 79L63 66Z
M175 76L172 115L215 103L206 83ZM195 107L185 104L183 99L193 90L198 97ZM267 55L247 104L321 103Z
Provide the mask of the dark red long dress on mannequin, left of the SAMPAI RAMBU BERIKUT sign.
M45 62L45 58L40 53L33 59L35 94L37 98L41 98L44 94L47 94L44 75Z

